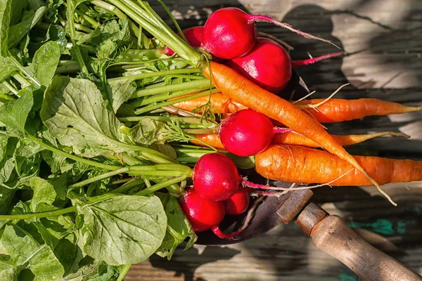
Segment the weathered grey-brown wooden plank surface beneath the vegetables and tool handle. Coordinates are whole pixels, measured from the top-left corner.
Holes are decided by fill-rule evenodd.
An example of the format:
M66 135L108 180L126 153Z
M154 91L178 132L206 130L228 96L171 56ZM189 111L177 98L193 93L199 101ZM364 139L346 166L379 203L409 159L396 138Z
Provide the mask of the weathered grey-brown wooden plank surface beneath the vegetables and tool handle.
M182 27L203 24L221 6L265 13L306 32L331 39L347 53L297 69L315 97L326 97L349 82L337 97L382 98L422 105L422 1L418 0L207 0L166 1ZM319 41L260 24L260 31L293 45L293 59L337 51ZM332 124L333 133L402 131L410 140L378 138L351 152L422 159L422 112L371 117ZM314 201L345 218L378 249L422 273L422 183L384 187L393 207L373 188L319 188ZM172 261L153 256L137 264L125 280L359 280L339 261L316 249L294 225L229 247L177 251Z

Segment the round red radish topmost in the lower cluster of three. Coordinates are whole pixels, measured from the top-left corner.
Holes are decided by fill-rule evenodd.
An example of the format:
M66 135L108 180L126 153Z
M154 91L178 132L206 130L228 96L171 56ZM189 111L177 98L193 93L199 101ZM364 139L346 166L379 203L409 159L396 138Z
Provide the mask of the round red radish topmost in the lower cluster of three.
M203 155L193 168L193 188L207 200L224 201L236 192L241 176L236 164L219 153Z

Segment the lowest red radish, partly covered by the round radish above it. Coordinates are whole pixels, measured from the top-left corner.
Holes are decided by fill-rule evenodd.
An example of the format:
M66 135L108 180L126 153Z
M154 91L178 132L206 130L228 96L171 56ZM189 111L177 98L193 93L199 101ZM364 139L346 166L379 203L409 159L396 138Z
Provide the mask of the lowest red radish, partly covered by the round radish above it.
M210 230L212 226L219 225L224 218L223 202L207 200L193 189L184 192L180 205L197 233Z

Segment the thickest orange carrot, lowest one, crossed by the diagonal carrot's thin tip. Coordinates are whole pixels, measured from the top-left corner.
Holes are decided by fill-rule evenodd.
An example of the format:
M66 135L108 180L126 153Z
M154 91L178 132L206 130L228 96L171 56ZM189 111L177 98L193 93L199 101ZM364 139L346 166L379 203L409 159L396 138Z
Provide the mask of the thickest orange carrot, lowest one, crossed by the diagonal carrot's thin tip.
M354 156L379 184L422 181L422 161ZM297 145L271 145L255 155L255 170L275 181L372 185L345 160L322 150Z

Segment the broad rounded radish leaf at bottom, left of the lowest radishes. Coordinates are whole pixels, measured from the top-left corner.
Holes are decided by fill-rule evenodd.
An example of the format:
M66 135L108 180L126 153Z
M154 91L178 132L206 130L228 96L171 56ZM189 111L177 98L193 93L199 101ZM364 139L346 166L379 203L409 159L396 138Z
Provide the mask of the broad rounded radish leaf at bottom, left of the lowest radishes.
M160 199L136 195L103 198L77 206L84 216L79 230L84 252L113 266L148 259L165 236L167 217Z

